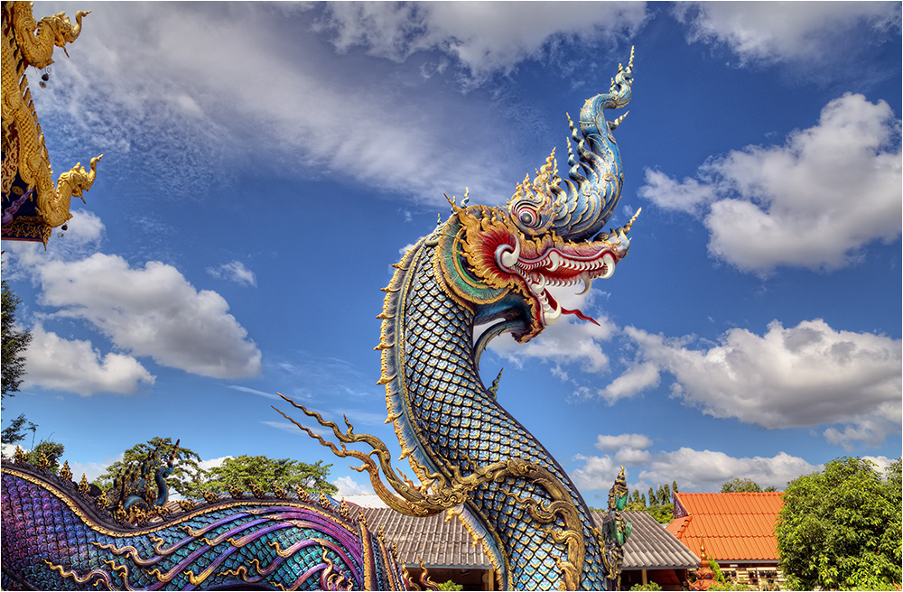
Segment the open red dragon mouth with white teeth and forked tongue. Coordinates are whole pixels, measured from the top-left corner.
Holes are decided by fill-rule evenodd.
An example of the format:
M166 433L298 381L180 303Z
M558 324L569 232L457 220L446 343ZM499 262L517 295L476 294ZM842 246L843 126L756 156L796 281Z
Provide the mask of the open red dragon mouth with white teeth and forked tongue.
M530 250L535 247L530 243L526 245ZM583 283L584 288L579 293L590 291L594 279L609 278L614 273L615 265L627 254L628 246L627 236L619 233L614 242L559 243L545 249L543 254L525 256L520 241L517 241L516 245L499 245L496 261L501 268L517 274L524 281L541 310L542 318L539 320L542 326L554 325L563 314L573 314L595 323L595 319L580 310L563 308L547 288Z

